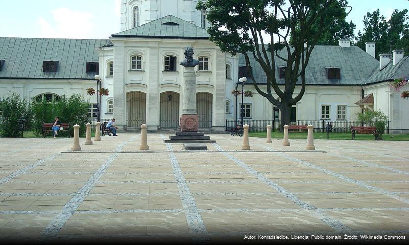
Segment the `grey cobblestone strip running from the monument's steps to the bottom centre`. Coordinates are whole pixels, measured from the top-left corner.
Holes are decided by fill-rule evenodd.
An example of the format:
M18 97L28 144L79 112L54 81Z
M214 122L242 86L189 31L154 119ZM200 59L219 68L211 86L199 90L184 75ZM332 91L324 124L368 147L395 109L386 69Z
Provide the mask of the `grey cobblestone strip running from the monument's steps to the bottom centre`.
M162 137L163 139L165 138L163 134L161 134L160 137ZM169 143L166 144L166 149L169 151L173 151L172 145ZM180 193L182 207L185 211L189 231L194 235L200 236L200 241L209 241L209 233L206 230L202 215L200 214L199 209L196 205L195 198L191 194L189 186L186 183L186 179L182 173L179 162L173 153L168 153L168 155L172 164L176 185ZM195 240L196 238L194 237L193 239Z

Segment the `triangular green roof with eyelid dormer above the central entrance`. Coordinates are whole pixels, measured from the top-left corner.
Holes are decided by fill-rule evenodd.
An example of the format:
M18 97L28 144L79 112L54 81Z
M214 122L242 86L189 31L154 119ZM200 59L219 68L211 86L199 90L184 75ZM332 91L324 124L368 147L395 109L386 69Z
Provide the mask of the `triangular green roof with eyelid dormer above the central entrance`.
M142 26L112 34L112 37L192 38L208 39L206 29L173 15L151 21Z

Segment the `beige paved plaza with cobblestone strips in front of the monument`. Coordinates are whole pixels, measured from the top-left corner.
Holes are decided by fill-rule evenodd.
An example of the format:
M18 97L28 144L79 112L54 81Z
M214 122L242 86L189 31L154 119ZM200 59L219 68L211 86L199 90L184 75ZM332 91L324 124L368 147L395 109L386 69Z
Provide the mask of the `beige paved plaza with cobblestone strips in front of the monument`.
M0 239L244 240L409 234L409 142L264 143L211 134L209 151L167 134L0 138ZM171 237L171 238L169 238ZM311 238L311 237L310 237Z

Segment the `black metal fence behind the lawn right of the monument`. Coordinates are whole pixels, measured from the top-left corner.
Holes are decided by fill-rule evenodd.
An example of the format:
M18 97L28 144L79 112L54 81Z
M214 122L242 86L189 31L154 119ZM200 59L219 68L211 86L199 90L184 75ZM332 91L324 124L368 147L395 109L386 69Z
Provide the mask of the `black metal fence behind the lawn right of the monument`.
M226 120L226 130L229 131L236 128L240 124L240 120ZM250 126L250 131L266 131L266 126L271 125L272 131L278 131L280 126L279 120L246 120L243 119L243 124ZM348 120L297 120L291 122L291 125L313 125L314 132L326 132L327 124L332 124L333 133L350 133L351 126L368 126L362 121L348 121ZM385 126L385 131L389 134L389 121Z

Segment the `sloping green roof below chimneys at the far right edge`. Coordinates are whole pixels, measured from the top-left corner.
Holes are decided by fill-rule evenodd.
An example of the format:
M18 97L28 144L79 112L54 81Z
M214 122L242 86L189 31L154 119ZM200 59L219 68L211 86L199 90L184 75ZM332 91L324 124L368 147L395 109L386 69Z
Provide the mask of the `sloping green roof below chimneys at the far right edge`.
M378 68L363 85L391 81L402 77L409 79L409 56L403 57L396 65L393 65L391 61L382 70Z

